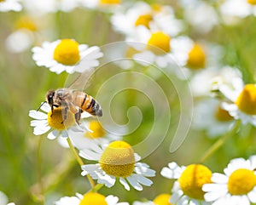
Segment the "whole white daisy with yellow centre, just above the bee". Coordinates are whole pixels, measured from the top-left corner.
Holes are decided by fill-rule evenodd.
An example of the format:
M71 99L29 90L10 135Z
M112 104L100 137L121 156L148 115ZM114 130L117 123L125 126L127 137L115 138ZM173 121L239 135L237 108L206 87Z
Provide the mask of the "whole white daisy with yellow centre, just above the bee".
M103 55L99 47L89 48L85 44L79 45L73 39L62 39L53 43L44 42L42 47L32 48L32 52L32 58L38 66L46 66L49 71L57 74L62 71L84 72L99 65L98 59Z

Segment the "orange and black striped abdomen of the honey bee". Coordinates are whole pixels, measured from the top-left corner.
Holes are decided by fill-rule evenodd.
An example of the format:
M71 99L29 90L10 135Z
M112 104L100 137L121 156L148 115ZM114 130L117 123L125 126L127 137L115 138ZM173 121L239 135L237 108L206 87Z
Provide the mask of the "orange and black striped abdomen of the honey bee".
M89 112L93 116L102 117L102 107L89 94L75 91L73 93L73 103L83 111Z

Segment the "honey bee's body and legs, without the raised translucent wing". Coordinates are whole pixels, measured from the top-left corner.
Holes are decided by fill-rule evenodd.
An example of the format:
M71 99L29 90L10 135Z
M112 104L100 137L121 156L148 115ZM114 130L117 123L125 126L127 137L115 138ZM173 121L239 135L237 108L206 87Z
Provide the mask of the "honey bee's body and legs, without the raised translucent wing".
M72 111L75 115L76 122L79 123L81 113L89 112L93 116L102 117L102 107L91 97L82 91L76 91L70 88L58 88L49 90L46 94L46 101L53 113L54 107L63 107L63 121L67 119L67 111Z

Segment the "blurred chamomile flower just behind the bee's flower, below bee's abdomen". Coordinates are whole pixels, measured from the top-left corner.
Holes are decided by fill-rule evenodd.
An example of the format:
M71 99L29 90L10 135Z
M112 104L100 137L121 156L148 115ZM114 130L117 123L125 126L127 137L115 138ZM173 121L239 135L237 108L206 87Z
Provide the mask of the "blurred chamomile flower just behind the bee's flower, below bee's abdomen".
M70 130L69 137L79 150L96 147L97 145L108 145L115 140L121 140L121 136L108 134L102 124L96 120L81 122L82 127L87 128L84 132Z

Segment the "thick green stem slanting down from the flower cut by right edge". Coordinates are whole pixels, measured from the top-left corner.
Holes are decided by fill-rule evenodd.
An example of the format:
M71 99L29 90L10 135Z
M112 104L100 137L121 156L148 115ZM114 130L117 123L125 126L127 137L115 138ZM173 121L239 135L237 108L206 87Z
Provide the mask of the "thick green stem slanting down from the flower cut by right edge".
M230 129L230 132L225 134L222 138L218 139L201 157L200 163L205 162L208 157L211 157L212 154L218 150L218 148L224 144L224 142L230 138L231 136L234 136L236 134L236 131L238 130L240 126L241 121L237 120L234 124L233 128Z

